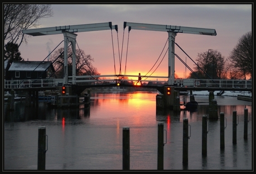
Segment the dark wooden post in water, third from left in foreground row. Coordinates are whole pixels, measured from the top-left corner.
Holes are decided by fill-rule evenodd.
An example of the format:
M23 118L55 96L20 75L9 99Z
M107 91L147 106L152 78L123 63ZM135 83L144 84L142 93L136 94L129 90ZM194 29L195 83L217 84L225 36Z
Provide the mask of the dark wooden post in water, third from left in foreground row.
M164 123L158 123L157 170L164 170Z

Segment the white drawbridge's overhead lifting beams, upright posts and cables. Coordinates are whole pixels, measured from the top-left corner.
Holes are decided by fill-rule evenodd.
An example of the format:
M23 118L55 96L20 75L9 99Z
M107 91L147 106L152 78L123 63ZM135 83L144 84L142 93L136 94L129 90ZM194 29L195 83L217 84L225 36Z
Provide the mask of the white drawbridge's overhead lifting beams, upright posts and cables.
M145 31L156 31L156 32L166 32L166 33L168 33L168 40L166 42L168 42L167 51L169 51L169 53L168 53L168 67L166 68L166 70L168 71L167 83L168 83L169 86L174 86L174 84L175 84L175 79L174 79L175 56L179 58L179 56L177 54L175 54L175 51L174 51L175 44L176 44L176 46L178 46L178 44L175 43L176 35L178 33L182 33L182 34L183 33L188 33L188 34L203 34L203 35L206 35L206 36L216 36L215 29L208 29L208 28L195 28L195 27L172 26L172 25L163 25L163 24L146 24L146 23L124 22L124 33L125 33L126 27L128 27L129 34L130 34L131 29L139 29L139 30L145 30ZM71 83L71 84L75 85L76 84L76 79L79 78L79 76L76 75L76 44L77 44L77 42L76 42L77 34L76 33L77 32L110 30L111 31L111 36L112 36L112 29L114 29L114 28L117 32L117 41L118 41L118 27L117 27L117 25L112 25L112 22L93 23L93 24L79 24L79 25L73 25L73 26L57 26L57 27L48 27L48 28L26 29L26 30L23 30L23 33L28 34L30 36L45 36L45 35L50 35L50 34L63 34L63 36L64 36L64 52L63 52L64 53L64 66L63 66L64 74L63 74L62 84ZM129 38L129 35L128 35L128 38ZM113 40L113 37L112 37L112 40ZM129 42L129 39L128 39L127 42ZM72 79L71 80L69 80L69 77L68 77L68 63L67 63L68 62L67 61L67 58L68 58L67 49L69 47L68 46L69 43L70 43L70 46L72 48L72 76L71 76ZM113 43L113 41L112 41L112 43ZM122 45L122 47L123 47L123 45ZM128 50L128 44L127 44L127 50ZM122 74L122 69L121 69L122 53L120 55L120 51L119 51L120 68L119 68L119 73L117 73L114 46L113 46L113 56L114 56L114 69L115 69L114 70L115 71L114 77L115 77L115 81L116 81L116 83L120 83L120 81L122 81L124 79L124 75L126 75L127 57L126 57L126 61L125 61L125 73ZM159 59L157 59L157 61L158 60ZM43 60L43 61L45 61L45 60ZM183 62L181 59L180 59L180 61ZM188 67L188 65L185 62L183 62L183 63L185 64L185 66ZM155 65L156 65L156 63L154 64L154 66ZM150 71L152 70L152 68L150 69ZM189 68L189 69L191 71L191 68ZM154 72L152 72L152 73L154 73ZM150 76L152 75L152 73L150 74ZM141 78L144 78L144 80L145 80L147 78L146 77L147 74L145 74L145 76L142 76ZM92 74L92 75L94 75L94 74ZM96 78L96 79L99 79L99 78Z

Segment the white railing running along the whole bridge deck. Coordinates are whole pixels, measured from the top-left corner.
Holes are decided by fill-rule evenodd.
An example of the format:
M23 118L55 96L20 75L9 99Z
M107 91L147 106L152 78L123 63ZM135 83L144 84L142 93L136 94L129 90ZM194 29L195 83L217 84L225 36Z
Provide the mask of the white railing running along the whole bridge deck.
M108 77L108 78L107 78ZM97 76L76 76L73 80L68 77L68 83L71 84L90 84L97 85L103 83L117 83L127 82L135 83L138 76L126 75L97 75ZM142 76L142 82L153 82L153 84L166 85L168 84L168 77L165 76ZM152 79L154 78L154 79ZM160 79L160 80L159 80ZM185 81L189 80L190 87L219 87L219 88L252 88L252 80L245 79L175 79L175 86L184 86ZM46 79L18 79L18 80L4 80L4 88L24 88L24 87L53 87L62 85L62 78L46 78Z

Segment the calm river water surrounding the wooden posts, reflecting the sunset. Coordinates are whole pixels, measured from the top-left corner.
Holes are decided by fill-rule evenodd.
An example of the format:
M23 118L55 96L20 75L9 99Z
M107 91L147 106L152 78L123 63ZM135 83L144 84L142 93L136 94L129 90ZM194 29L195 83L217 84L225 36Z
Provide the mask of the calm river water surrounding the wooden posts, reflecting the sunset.
M37 170L38 128L48 136L46 170L122 170L122 129L130 128L130 170L157 170L157 125L164 122L164 170L253 170L252 102L215 96L225 116L225 149L220 150L220 121L209 121L207 156L201 155L202 116L208 96L195 96L198 111L156 111L157 92L91 93L91 105L79 109L37 110L15 102L3 114L4 170ZM189 100L189 97L188 97ZM6 105L4 105L6 108ZM248 139L244 140L244 108ZM232 116L237 111L237 144ZM188 165L183 165L183 119L188 118Z

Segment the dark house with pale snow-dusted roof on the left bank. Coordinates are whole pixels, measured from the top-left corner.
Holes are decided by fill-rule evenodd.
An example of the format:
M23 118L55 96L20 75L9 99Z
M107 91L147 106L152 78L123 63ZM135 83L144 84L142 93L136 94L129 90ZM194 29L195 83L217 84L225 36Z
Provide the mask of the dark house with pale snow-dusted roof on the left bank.
M54 72L50 61L13 61L6 69L6 79L45 79Z

